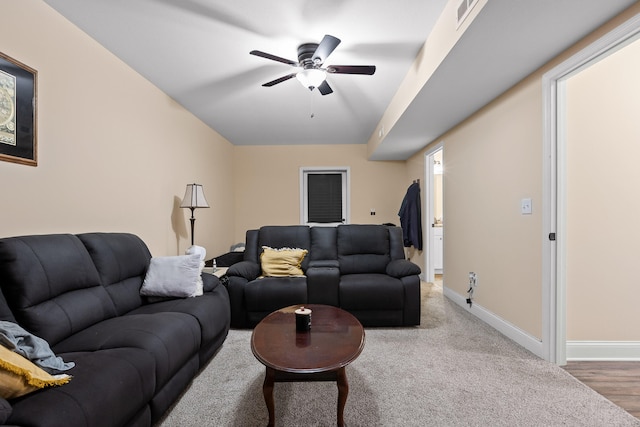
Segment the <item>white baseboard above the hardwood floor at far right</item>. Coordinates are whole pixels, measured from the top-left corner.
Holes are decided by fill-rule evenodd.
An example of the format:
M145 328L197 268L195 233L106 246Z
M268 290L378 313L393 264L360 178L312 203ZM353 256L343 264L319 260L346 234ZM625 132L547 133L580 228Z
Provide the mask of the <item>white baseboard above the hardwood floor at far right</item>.
M567 341L567 360L640 361L640 342Z

